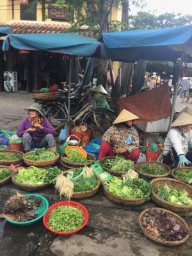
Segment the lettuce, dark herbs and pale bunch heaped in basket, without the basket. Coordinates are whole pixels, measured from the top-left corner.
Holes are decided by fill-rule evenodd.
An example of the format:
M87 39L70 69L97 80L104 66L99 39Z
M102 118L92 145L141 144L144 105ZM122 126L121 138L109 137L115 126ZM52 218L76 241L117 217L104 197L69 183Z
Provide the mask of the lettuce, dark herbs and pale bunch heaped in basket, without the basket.
M133 172L131 175L129 172L123 175L123 180L113 177L109 182L105 182L104 186L109 193L129 199L145 197L149 200L152 190L147 181L136 177Z

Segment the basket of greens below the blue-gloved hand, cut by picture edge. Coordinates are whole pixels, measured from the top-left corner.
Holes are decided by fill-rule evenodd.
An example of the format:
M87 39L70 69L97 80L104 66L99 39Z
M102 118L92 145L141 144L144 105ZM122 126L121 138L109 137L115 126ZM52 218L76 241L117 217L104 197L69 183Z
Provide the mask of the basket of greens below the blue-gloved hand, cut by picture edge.
M192 186L192 167L177 167L172 170L172 176L174 179L183 181Z

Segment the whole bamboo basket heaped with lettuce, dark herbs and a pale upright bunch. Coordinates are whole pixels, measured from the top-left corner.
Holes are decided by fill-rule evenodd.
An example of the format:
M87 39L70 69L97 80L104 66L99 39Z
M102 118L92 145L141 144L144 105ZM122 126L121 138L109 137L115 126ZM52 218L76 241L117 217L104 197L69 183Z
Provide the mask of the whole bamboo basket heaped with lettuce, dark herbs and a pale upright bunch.
M141 205L150 200L151 185L138 177L138 173L130 170L122 175L123 179L113 177L104 182L104 194L115 204Z

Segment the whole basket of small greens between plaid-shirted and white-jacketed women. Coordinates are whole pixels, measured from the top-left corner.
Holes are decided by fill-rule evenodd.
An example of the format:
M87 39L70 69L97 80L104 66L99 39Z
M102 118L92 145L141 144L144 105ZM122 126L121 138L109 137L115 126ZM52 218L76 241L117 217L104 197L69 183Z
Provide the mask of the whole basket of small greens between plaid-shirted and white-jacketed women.
M139 163L136 165L135 170L141 177L147 177L149 179L170 175L170 168L166 164L158 163L156 161Z

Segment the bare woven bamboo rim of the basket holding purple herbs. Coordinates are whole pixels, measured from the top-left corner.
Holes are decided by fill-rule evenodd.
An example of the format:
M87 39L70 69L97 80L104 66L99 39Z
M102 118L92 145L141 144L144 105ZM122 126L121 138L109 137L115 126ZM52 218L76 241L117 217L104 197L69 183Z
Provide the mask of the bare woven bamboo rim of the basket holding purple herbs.
M147 212L150 212L150 211L160 211L160 210L163 210L164 212L167 212L169 214L171 214L174 218L177 219L177 223L179 225L184 225L184 227L186 227L186 229L188 230L188 234L186 235L186 237L184 237L183 239L179 240L179 241L167 241L167 240L164 240L164 239L158 239L157 237L155 236L152 236L151 233L147 232L146 228L145 228L145 225L143 224L143 216L145 215L145 213ZM172 212L172 211L168 211L166 209L163 209L163 208L159 208L159 207L152 207L152 208L148 208L148 209L145 209L144 211L142 211L140 213L140 216L139 216L139 225L140 225L140 228L141 230L143 231L143 234L145 236L147 236L148 239L154 241L155 243L157 244L161 244L161 245L164 245L164 246L177 246L177 245L180 245L182 243L184 243L188 238L189 238L189 227L188 227L188 224L186 223L186 221L184 221L178 214L176 214L175 212Z

